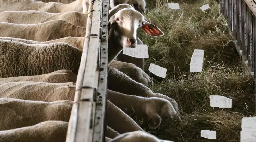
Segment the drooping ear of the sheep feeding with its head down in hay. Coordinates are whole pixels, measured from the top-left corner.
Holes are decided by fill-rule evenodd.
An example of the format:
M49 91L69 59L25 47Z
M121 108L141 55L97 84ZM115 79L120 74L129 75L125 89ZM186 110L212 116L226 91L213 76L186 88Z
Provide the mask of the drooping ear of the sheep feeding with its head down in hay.
M160 126L162 119L161 117L152 109L146 109L146 115L148 117L148 126L150 129L155 130L158 126Z

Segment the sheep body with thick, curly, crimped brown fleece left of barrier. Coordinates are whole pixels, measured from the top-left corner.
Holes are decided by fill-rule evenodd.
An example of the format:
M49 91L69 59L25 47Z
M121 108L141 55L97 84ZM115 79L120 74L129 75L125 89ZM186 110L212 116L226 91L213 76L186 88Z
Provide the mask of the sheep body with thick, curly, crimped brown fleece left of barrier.
M77 75L81 56L81 50L65 43L0 40L0 78L41 75L62 69Z

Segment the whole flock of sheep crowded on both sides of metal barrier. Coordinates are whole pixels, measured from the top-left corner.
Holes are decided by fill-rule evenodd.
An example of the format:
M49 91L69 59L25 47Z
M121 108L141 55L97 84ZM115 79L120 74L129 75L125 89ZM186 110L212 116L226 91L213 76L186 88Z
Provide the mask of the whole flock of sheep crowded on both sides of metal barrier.
M88 6L88 0L0 0L1 142L65 142ZM139 29L163 32L142 15L144 0L110 0L109 8L106 141L160 142L142 127L181 122L178 104L147 87L144 59L121 51L142 44Z

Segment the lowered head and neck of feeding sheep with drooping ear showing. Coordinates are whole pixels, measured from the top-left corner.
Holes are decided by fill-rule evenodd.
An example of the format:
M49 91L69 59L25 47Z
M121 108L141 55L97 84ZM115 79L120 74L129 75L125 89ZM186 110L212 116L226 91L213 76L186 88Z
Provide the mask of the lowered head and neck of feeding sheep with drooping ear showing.
M127 114L135 112L134 115L143 120L144 127L148 123L151 129L156 129L162 120L162 124L168 125L168 118L181 121L173 105L166 99L132 96L112 90L108 90L108 99Z

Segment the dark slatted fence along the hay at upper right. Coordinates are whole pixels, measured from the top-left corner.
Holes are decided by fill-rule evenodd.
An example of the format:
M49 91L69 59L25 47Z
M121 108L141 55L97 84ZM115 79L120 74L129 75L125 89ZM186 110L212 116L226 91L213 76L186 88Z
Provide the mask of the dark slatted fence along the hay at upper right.
M255 79L255 1L219 0L242 62Z

